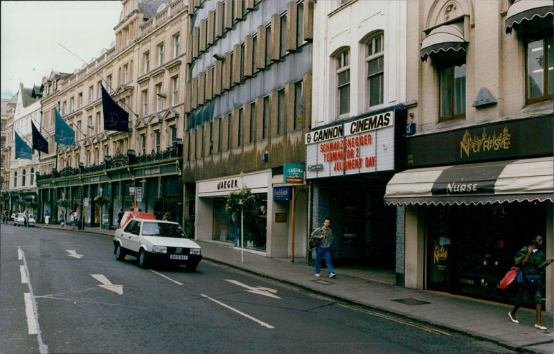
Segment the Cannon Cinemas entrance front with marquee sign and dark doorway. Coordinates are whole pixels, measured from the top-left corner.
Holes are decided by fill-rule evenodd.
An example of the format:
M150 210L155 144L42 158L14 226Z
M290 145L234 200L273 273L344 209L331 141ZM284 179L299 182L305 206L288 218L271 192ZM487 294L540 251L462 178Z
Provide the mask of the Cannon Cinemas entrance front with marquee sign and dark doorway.
M334 265L395 269L396 209L383 196L403 169L405 132L406 109L395 106L305 135L310 229L330 218Z

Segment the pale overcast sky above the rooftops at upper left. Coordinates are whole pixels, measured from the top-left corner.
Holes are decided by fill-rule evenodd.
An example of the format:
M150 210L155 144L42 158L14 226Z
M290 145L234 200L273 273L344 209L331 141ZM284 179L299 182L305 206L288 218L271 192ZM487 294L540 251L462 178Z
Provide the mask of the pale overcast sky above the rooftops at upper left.
M122 9L116 0L1 0L0 6L1 98L12 98L19 82L40 85L52 71L73 73L99 57L116 40Z

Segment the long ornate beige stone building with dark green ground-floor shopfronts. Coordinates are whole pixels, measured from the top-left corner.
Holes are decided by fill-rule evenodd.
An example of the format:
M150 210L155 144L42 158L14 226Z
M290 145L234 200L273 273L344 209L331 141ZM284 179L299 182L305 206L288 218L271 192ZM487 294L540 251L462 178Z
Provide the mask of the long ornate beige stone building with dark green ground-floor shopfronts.
M122 1L116 40L71 74L43 80L42 129L51 137L55 110L75 145L50 143L42 159L42 209L73 209L87 225L116 225L134 207L184 223L181 157L186 1ZM101 87L129 112L129 131L105 130Z

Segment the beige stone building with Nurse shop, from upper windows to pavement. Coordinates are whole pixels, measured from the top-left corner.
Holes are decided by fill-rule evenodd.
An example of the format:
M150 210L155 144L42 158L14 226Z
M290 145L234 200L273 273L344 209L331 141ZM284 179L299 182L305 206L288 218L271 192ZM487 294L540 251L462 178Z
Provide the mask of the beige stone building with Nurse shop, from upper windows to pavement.
M406 287L512 301L499 280L553 256L551 1L407 3L407 170L386 186ZM553 310L553 269L543 299Z

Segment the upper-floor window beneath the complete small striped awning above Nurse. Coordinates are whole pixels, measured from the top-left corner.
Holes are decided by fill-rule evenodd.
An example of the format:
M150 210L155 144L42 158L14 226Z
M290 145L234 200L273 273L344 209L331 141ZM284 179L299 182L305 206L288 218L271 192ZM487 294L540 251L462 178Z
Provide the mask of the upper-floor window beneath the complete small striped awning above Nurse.
M438 73L440 121L465 117L465 64Z

